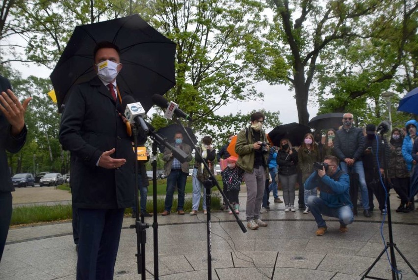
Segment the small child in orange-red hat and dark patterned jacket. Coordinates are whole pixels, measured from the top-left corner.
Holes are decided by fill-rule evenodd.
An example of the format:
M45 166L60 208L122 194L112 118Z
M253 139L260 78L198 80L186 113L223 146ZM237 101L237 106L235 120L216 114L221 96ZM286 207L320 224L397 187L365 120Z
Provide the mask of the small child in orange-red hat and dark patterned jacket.
M232 214L232 211L239 214L238 194L241 190L241 182L244 177L244 174L235 165L236 160L237 158L233 156L227 158L228 166L222 170L222 182L227 188L228 201L232 205L229 214Z

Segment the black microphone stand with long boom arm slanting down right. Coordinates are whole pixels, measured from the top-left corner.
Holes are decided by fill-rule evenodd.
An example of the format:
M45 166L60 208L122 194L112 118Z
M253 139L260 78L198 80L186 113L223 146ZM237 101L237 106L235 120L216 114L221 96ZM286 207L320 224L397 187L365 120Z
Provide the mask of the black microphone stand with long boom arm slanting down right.
M187 139L190 141L192 147L195 149L195 151L197 151L196 145L193 143L193 140L191 139L190 135L187 133L183 124L180 122L180 120L178 118L175 118L175 120L181 126L184 135L187 136ZM232 207L231 203L229 203L228 198L225 196L224 192L222 191L221 187L219 186L219 183L216 180L215 176L210 171L208 163L202 158L201 154L199 154L199 157L200 157L200 161L202 161L202 163L203 163L203 166L205 167L205 169L210 174L209 179L207 179L203 183L203 185L206 189L206 209L208 211L208 214L207 214L207 217L206 217L206 226L207 226L207 232L208 232L208 236L207 236L207 240L208 240L208 279L211 280L212 279L212 239L211 239L212 221L210 219L210 200L211 200L210 189L213 186L216 186L218 188L220 194L224 198L225 203L228 205L228 207L230 207L229 209L233 209L233 207ZM247 229L245 228L244 224L242 224L241 220L239 220L238 215L236 215L235 211L232 211L232 214L234 215L236 223L238 223L242 232L244 232L244 233L247 232Z

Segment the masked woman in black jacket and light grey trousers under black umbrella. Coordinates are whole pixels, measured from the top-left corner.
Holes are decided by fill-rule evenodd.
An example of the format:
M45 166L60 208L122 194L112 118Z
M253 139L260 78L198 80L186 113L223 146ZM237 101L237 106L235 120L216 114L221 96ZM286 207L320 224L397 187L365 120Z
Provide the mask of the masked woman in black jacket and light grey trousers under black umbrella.
M283 189L285 200L285 212L295 212L295 184L297 179L297 163L299 161L297 151L291 147L288 139L280 141L280 150L277 152L277 171Z

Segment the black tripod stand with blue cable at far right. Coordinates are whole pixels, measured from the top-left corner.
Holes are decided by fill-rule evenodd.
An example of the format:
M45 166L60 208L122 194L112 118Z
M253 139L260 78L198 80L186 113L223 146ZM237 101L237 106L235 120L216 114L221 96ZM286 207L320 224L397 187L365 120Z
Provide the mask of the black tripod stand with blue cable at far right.
M381 133L381 139L382 139L382 146L383 146L383 163L385 167L385 178L388 180L388 162L386 159L386 152L385 152L385 142L383 140L383 132ZM378 141L378 137L376 136L376 141ZM377 153L379 154L379 153ZM381 183L384 184L383 179L381 179ZM388 227L389 227L389 242L386 243L385 248L380 252L379 256L376 258L376 260L371 264L371 266L367 269L366 273L361 278L362 280L365 278L368 279L378 279L378 280L385 280L384 278L377 278L377 277L371 277L367 276L368 273L371 271L371 269L376 265L376 263L379 261L379 259L382 257L382 255L390 248L391 252L391 270L392 270L392 280L399 280L398 271L396 267L396 258L395 258L395 252L393 249L396 249L396 251L400 254L400 256L403 258L405 263L412 269L412 271L415 273L415 275L418 277L417 271L412 267L412 265L409 263L409 261L406 259L406 257L400 252L400 250L396 247L396 244L393 243L393 233L392 233L392 215L391 215L391 200L389 199L389 188L386 188L386 205L387 205L387 214L388 214Z

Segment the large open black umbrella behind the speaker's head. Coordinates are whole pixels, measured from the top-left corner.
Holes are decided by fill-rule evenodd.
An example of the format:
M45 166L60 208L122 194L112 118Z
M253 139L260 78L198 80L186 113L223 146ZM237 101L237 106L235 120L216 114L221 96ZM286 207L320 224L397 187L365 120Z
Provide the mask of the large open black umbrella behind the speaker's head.
M118 86L139 101L145 111L153 106L152 95L162 95L176 84L176 44L138 15L82 25L74 29L50 76L59 112L74 84L96 76L93 50L103 41L119 47L123 68L117 78Z

